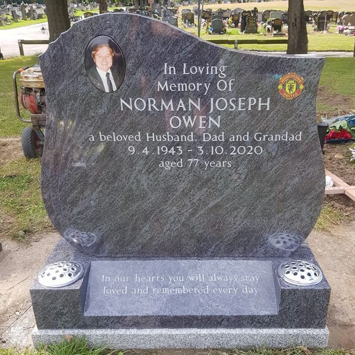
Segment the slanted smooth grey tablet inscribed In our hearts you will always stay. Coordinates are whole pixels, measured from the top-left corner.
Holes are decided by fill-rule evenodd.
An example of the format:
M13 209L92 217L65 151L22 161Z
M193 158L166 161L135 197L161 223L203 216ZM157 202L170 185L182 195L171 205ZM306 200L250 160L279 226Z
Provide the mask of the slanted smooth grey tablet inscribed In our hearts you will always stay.
M84 315L277 314L273 275L270 261L93 261Z

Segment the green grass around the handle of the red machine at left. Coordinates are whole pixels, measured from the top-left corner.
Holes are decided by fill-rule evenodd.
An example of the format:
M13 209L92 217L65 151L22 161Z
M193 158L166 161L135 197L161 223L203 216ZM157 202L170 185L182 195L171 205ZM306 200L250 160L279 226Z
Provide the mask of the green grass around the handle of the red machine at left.
M25 126L16 116L12 74L16 69L32 66L37 62L38 56L16 57L0 61L0 137L19 135ZM20 86L19 81L17 85ZM27 110L22 109L21 115L25 119L30 118Z

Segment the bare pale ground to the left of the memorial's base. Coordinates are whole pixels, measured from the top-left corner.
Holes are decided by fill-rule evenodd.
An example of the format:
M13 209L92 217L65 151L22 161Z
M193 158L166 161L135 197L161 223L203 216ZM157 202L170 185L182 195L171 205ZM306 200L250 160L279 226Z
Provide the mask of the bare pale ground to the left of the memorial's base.
M26 242L7 238L0 252L0 348L32 344L35 318L30 286L60 238L39 233Z

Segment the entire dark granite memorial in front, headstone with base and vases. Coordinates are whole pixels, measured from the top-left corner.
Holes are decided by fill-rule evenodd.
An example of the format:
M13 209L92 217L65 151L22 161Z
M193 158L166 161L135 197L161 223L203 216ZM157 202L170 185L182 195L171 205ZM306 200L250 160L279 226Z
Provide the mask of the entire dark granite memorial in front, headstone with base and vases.
M40 61L42 194L64 238L31 288L35 344L327 344L330 287L304 243L324 194L322 58L121 13L74 23Z

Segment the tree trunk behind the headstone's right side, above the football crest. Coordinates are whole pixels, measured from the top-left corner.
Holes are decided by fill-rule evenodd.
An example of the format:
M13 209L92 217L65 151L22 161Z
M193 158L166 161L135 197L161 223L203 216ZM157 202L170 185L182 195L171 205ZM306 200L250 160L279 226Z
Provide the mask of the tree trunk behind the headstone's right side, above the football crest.
M287 54L305 54L308 37L303 0L288 0Z

